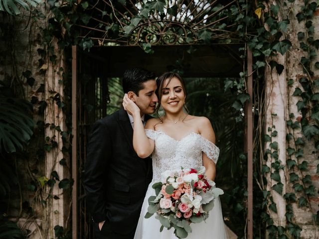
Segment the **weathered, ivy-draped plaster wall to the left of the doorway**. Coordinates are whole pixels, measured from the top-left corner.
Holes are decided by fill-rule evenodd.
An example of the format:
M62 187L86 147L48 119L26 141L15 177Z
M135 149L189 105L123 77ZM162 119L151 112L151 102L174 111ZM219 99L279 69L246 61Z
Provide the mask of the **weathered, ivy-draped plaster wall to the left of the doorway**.
M39 65L39 49L46 50L42 39L43 29L47 27L48 18L52 14L45 7L45 4L41 4L38 9L32 9L31 13L22 11L21 15L14 17L6 17L0 12L0 22L3 24L0 27L0 81L20 81L23 92L19 94L34 103L33 119L36 127L27 153L17 158L19 185L11 192L8 212L9 217L18 221L18 225L30 239L55 238L54 227L59 225L65 228L70 220L69 192L64 193L59 189L57 180L52 191L47 186L42 190L30 190L32 180L38 184L38 178L50 179L52 171L56 171L60 179L69 177L67 167L59 164L59 160L67 158L62 153L60 132L50 127L54 124L63 131L66 128L65 115L52 100L55 93L59 93L61 99L64 95L63 83L59 81L63 79L62 71L59 71L64 66L62 53L56 48L59 54L55 65L48 63L45 58L42 59L44 64ZM5 29L6 25L8 29ZM53 47L54 43L52 42ZM27 83L26 71L30 73L28 78L34 79L33 86ZM40 110L45 103L46 109ZM49 140L46 141L47 137L57 143L57 147L50 151L45 150L44 144L49 143ZM56 195L59 199L48 197L49 194ZM30 208L34 211L33 214L27 212Z

